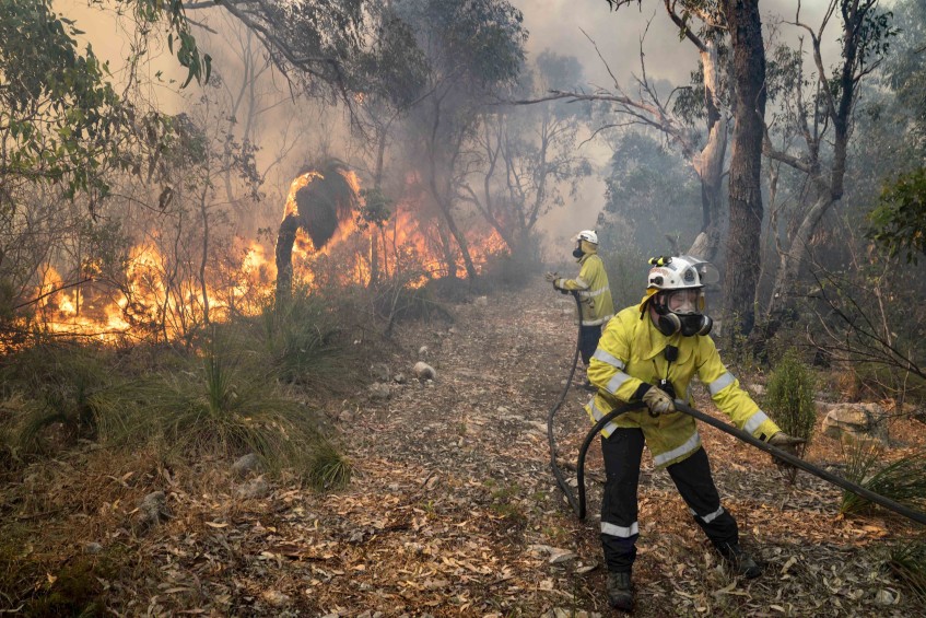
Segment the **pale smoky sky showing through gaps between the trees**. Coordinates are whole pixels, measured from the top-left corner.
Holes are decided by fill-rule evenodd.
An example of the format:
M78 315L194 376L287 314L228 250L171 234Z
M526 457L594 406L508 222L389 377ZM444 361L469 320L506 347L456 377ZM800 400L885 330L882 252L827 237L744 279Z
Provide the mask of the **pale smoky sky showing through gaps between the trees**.
M598 88L614 90L614 79L625 89L628 94L636 92L634 75L641 75L641 40L643 46L643 59L645 61L647 77L653 81L665 81L671 84L687 84L691 71L698 68L698 56L693 46L687 40L680 40L678 28L668 20L665 8L660 0L643 0L640 8L636 5L623 7L619 11L612 11L607 0L509 0L518 8L525 20L525 26L530 33L527 50L529 57L536 57L544 49L550 49L559 55L574 56L583 65L584 83L586 90ZM820 18L830 0L802 0L801 18L814 30L819 27ZM763 35L766 44L773 34L789 43L796 42L800 32L793 25L782 22L795 19L797 0L761 0ZM110 61L115 77L118 81L119 69L124 66L122 59L129 51L131 38L130 28L125 23L116 20L98 10L89 10L86 2L82 0L57 0L56 9L63 14L78 19L78 25L86 31L86 39L93 44L94 50L104 59ZM216 19L216 11L196 12L197 18L209 19L210 27L216 28L223 34L209 35L198 32L197 36L206 46L206 50L215 56L216 71L224 74L226 79L234 81L234 73L238 63L233 53L222 50L221 42L228 34L228 24L221 18ZM824 61L832 65L837 58L834 40L839 34L839 22L833 20L830 24L828 35L824 36ZM183 79L183 69L177 67L176 59L166 49L155 46L153 58L148 58L142 70L154 77L162 71L165 78ZM597 48L596 48L597 47ZM599 57L600 55L600 57ZM607 63L607 66L606 66ZM612 74L613 77L612 77ZM279 84L283 82L277 75ZM186 96L195 96L198 86L192 85L184 93ZM171 108L183 106L177 97L176 83L173 85L157 85L157 80L152 80L148 95L160 102L162 107ZM285 123L281 118L304 117L304 113L293 114L293 107L286 104L285 93L280 97L283 105L273 108L276 118L269 119L263 132L268 143L262 144L263 150L258 154L269 156L273 153L272 142L280 138L274 137L274 127L278 133L285 132ZM304 105L304 103L303 103ZM341 120L342 121L342 120ZM321 135L347 136L347 131L338 128L338 120L314 119L313 124L324 130ZM335 138L340 141L341 138ZM320 144L320 139L314 137L306 140L307 144ZM354 148L350 144L331 147L333 152L343 151L344 158L350 159L349 152ZM285 179L292 177L293 171L300 167L306 159L306 152L294 153L294 160L279 167L277 184L278 191L271 194L284 195ZM569 237L582 229L596 226L598 213L605 205L603 176L608 173L610 159L609 148L603 140L593 140L582 145L582 152L588 156L597 173L583 182L578 194L574 198L565 196L566 203L550 212L539 224L541 231L546 231L552 241L551 259L569 259L572 243ZM298 159L298 160L296 160ZM274 196L276 197L276 196ZM273 201L273 197L271 197ZM278 205L279 206L279 205ZM266 206L265 206L266 207ZM270 210L278 211L279 208L271 206Z

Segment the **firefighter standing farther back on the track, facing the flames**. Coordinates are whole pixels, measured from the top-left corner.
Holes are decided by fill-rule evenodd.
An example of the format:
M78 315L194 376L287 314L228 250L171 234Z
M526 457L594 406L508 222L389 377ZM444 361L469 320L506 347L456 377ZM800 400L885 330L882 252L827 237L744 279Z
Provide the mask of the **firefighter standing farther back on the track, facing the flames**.
M591 230L583 230L574 238L576 246L573 257L579 264L578 277L566 279L556 272L548 272L547 281L553 283L562 292L578 292L581 315L579 319L579 353L582 362L588 366L601 328L614 316L614 301L611 300L611 288L608 284L608 273L605 264L598 256L598 234Z

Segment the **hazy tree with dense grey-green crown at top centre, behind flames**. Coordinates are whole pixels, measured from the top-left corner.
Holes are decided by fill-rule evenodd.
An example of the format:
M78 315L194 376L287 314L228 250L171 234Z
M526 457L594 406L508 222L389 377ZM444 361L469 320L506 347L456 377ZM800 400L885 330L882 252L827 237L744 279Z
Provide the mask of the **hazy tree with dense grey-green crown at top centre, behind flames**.
M424 95L411 108L408 125L424 185L443 219L444 260L455 277L454 254L459 250L473 280L476 266L457 222L458 195L469 165L478 163L470 147L480 112L521 70L527 38L523 16L506 0L399 0L394 7L424 55Z

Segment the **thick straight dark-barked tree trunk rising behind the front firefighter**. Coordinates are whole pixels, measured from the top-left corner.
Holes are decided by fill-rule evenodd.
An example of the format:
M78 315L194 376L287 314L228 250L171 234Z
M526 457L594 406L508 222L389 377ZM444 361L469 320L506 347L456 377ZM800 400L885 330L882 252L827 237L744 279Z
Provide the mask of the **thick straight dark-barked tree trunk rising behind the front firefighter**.
M728 333L748 334L755 322L758 247L762 231L765 50L759 0L726 0L725 4L734 49L736 128L730 161L730 226L724 289L727 324L732 325Z

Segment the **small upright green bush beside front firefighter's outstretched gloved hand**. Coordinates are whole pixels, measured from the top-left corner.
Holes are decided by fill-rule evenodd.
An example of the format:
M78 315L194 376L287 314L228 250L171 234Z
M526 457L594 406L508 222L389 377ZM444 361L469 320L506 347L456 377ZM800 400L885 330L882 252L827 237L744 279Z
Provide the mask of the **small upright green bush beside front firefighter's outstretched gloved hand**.
M769 378L763 406L782 431L808 443L817 423L816 387L813 374L792 348Z

